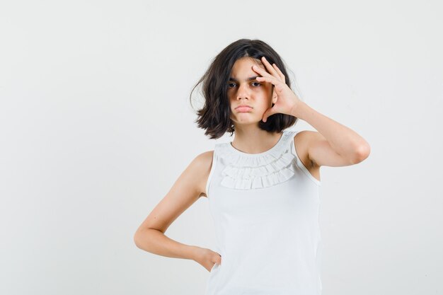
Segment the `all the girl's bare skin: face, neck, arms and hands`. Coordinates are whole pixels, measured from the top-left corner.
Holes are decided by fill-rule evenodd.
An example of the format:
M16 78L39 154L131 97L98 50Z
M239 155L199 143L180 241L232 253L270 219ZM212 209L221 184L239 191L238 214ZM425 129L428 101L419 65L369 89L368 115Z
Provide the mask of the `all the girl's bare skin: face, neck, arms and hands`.
M251 76L261 78L246 81ZM281 134L271 134L259 129L258 122L267 120L267 117L275 113L283 113L298 117L318 130L303 130L294 137L297 156L317 180L320 180L321 166L355 165L369 156L370 147L367 141L352 129L299 100L284 82L285 77L280 69L267 62L264 57L260 61L251 58L238 59L231 69L231 77L237 80L230 84L228 91L231 120L236 129L234 141L231 142L234 148L248 154L257 154L272 148ZM259 83L262 85L258 86ZM271 108L272 103L275 105ZM238 112L235 108L240 104L251 105L252 110ZM197 155L171 190L149 213L134 234L134 243L138 248L166 257L192 259L208 271L214 263L222 265L219 253L179 243L164 234L180 214L200 197L207 197L205 187L212 167L213 152L205 151Z

